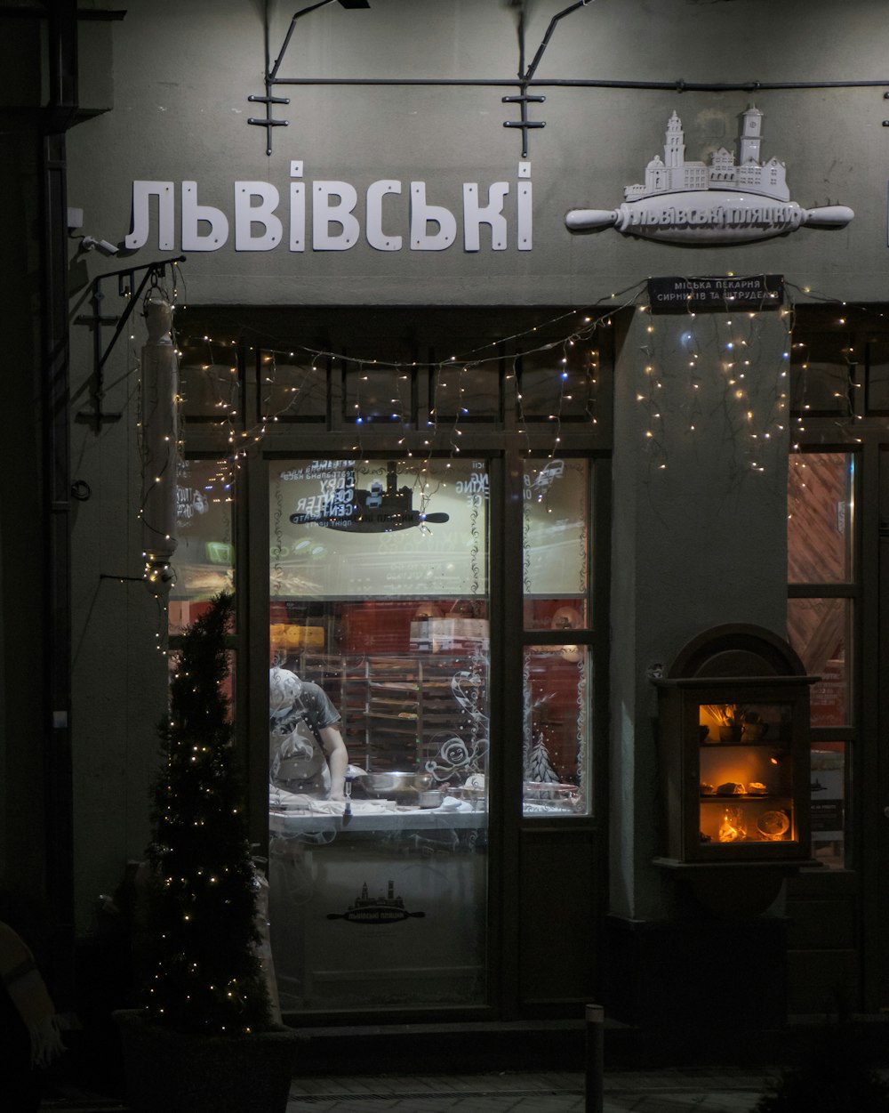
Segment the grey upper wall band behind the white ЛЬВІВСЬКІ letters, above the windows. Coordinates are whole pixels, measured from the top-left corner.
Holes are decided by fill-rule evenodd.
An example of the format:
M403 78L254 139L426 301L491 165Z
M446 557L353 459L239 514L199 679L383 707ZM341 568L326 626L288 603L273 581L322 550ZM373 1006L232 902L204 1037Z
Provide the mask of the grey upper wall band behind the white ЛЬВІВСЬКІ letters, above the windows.
M269 50L278 52L293 6L271 4ZM529 6L526 63L560 2ZM266 181L283 198L290 164L303 162L310 190L345 180L363 197L379 179L402 183L385 201L387 230L407 236L408 184L426 183L431 204L460 214L464 183L484 191L506 181L510 235L520 135L503 105L512 88L288 87L275 106L288 127L249 127L263 106L265 46L260 4L181 4L137 0L113 27L115 111L80 125L71 142L71 203L90 228L122 242L130 229L135 179L197 183L198 204L226 213L234 183ZM836 6L816 0L800 19L794 6L768 0L615 3L597 0L556 26L537 70L543 79L689 82L878 80L889 29L878 0ZM377 0L371 10L333 3L296 23L280 73L332 78L510 79L518 67L516 13L505 0ZM482 250L460 242L443 252L371 247L348 250L236 252L189 255L188 297L199 303L285 304L592 302L649 274L783 273L796 286L829 296L867 297L886 252L889 139L882 88L679 92L554 87L531 132L534 240L531 252ZM673 110L685 129L686 158L734 148L738 117L750 104L764 112L762 155L787 165L791 198L803 207L840 201L856 217L848 229L801 229L764 243L710 248L703 257L679 246L628 239L613 230L571 236L566 210L613 208L662 150ZM206 230L206 229L205 229ZM231 229L230 229L231 230ZM177 229L176 247L181 239ZM134 262L162 256L155 238Z

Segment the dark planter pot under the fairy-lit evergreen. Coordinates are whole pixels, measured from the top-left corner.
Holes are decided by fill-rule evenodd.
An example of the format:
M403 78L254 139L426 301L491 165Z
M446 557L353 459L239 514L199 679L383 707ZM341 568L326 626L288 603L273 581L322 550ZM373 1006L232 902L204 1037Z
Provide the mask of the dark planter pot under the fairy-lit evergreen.
M175 1032L118 1009L130 1113L285 1113L307 1036L292 1028L237 1036Z

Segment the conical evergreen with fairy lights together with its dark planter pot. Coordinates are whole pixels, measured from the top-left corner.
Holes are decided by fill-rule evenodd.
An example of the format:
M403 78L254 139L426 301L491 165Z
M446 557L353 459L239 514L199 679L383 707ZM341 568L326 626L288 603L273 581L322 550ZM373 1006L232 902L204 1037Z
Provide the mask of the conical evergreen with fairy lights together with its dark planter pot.
M296 1034L273 1023L259 957L259 880L224 691L231 614L223 593L186 631L160 726L140 1007L116 1014L132 1113L287 1104Z

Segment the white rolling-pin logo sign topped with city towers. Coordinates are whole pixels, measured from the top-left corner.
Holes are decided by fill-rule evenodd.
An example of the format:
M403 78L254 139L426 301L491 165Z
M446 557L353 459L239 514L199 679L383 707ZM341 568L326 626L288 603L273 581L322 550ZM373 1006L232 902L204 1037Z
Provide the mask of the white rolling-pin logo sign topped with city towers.
M791 200L784 164L774 157L760 161L762 112L748 108L741 121L737 159L720 147L709 164L688 161L682 120L673 112L663 158L649 162L644 183L626 186L615 209L571 209L566 227L574 233L616 228L673 244L734 244L849 224L855 214L846 205L806 209Z

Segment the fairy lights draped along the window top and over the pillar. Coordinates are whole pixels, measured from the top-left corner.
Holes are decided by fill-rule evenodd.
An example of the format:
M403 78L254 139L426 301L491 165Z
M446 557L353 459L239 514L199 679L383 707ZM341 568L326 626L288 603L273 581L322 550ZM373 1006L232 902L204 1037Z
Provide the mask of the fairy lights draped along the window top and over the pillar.
M185 309L185 302L179 298L180 287L185 289L181 267L174 264L172 272L169 301L175 308ZM839 306L846 303L787 283L789 296L777 309L770 306L714 314L690 308L681 315L678 327L674 314L661 317L652 312L646 287L646 280L641 280L601 296L586 308L560 312L549 321L437 361L384 359L369 353L344 354L274 341L269 346L248 346L247 353L258 361L261 391L260 413L250 426L243 421L244 384L239 367L243 345L236 338L186 335L175 328L181 380L191 394L186 401L186 391L180 387L177 400L180 415L205 418L210 427L220 431L220 440L225 443L210 470L203 475L206 498L210 502L233 501L243 462L250 451L274 435L275 426L289 423L293 429L293 421L298 423L306 414L309 420L323 417L327 377L335 373L339 373L346 384L346 402L353 415L347 423L355 434L349 451L360 460L366 449L365 430L375 423L377 426L386 424L394 433L389 443L395 443L404 457L413 461L409 470L422 500L421 510L425 510L435 490L433 455L438 457L437 466L445 471L460 456L466 426L472 427L471 423L477 423L480 416L490 416L492 403L490 395L484 394L484 384L496 382L494 372L501 367L505 367L505 382L513 384L517 433L527 437L524 454L541 454L539 434L541 429L546 429L549 449L545 455L552 459L561 451L566 417L576 422L580 411L582 422L591 426L599 424L595 410L601 374L595 346L597 334L612 325L620 311L631 308L648 315L645 343L641 345L641 361L631 358L619 371L638 375L634 397L644 415L640 423L644 426L640 451L645 454L652 472L666 471L684 443L693 441L695 434L717 420L725 439L732 443L734 480L741 482L747 474L764 473L777 462L783 466L778 450L788 443L788 437L794 449L799 446L797 436L806 432L808 411L804 391L809 365L799 347L803 342L792 339L796 302L804 299L807 304L823 302ZM861 312L871 307L856 308ZM773 333L769 334L768 343L764 341L765 322L776 316L783 325L784 343L780 351L776 349ZM239 329L239 324L231 321L227 327L234 332ZM136 338L131 336L130 339L135 346ZM200 348L203 358L198 361L196 353ZM504 352L511 354L504 356ZM542 391L537 385L529 411L518 376L518 359L532 356L543 358L549 388ZM794 411L792 416L791 363L800 376L803 398L802 402L793 400L799 412ZM136 365L139 366L138 354ZM771 374L764 370L770 365ZM421 372L428 375L431 384L429 410L423 427L416 423L409 388L412 376ZM384 405L386 387L392 387L388 408ZM545 415L539 412L541 393L546 395ZM799 386L797 393L800 393ZM840 390L836 396L843 404L838 411L837 424L846 435L853 436L855 415L848 398ZM537 446L534 451L532 425L533 444ZM184 422L181 427L185 427ZM184 447L180 442L182 453Z

